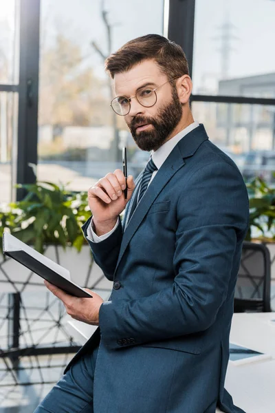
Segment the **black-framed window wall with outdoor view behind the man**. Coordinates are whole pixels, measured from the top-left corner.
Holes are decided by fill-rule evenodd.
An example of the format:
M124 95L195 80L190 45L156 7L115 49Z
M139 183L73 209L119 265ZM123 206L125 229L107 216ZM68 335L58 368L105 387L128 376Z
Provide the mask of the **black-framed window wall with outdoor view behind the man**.
M123 119L111 111L104 59L136 36L167 36L169 2L33 3L1 0L1 202L14 199L13 184L32 174L87 191L121 167L125 144L129 173L137 176L148 153L138 153ZM182 19L170 27L186 45L195 119L245 178L258 174L269 182L275 169L274 8L272 0L197 0L188 28ZM193 37L186 36L191 24Z

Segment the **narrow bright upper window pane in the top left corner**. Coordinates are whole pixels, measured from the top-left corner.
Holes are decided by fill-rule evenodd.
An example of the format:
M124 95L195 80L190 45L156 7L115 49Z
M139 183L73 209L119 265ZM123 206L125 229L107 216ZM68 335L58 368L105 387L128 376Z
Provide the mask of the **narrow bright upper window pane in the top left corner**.
M19 82L19 1L0 0L0 85Z

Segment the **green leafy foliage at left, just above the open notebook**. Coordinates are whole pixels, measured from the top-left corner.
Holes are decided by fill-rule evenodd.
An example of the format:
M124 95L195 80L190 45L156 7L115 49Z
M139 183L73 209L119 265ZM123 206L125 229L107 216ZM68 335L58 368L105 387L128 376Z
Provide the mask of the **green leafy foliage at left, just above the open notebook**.
M17 185L25 190L23 200L2 211L3 228L43 253L49 244L80 251L85 238L80 227L91 215L87 193L72 193L52 182Z

